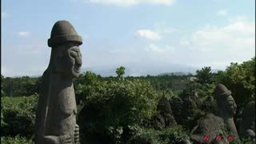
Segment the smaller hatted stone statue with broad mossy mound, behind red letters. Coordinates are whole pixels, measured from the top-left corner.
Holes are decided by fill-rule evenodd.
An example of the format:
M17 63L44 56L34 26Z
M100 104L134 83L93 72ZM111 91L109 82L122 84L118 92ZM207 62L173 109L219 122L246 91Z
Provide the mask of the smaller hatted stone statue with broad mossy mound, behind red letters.
M237 106L231 96L231 91L226 86L218 84L214 90L214 98L217 101L217 112L216 114L207 114L206 118L194 127L191 132L191 140L194 143L228 143L227 138L216 141L217 136L225 136L225 131L229 134L228 136L238 138L238 131L233 119ZM204 141L205 136L210 136L209 142Z

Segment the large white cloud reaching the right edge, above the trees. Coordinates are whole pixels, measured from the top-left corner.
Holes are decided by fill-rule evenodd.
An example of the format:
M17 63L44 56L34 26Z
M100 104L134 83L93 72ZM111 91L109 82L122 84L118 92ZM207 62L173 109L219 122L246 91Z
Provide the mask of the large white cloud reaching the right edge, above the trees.
M206 26L201 30L197 30L192 38L191 42L197 46L233 46L234 43L239 44L238 46L244 47L251 46L255 34L255 22L230 22L227 26ZM238 47L235 46L235 47ZM231 48L231 47L230 47ZM233 47L234 49L234 47Z

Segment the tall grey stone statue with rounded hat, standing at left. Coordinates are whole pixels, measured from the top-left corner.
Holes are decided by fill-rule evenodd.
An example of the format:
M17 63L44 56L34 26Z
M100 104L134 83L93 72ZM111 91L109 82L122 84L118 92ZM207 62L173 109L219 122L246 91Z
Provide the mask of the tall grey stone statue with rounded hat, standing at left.
M35 144L79 144L73 79L82 66L82 38L67 21L54 24L48 39L50 62L42 75Z

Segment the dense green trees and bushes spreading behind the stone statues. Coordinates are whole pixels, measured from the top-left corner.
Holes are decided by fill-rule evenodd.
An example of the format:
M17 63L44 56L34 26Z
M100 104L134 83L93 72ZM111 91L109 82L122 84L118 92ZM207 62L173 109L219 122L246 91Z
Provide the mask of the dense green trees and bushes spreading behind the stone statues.
M231 63L218 73L203 67L194 75L195 81L190 81L192 74L123 77L122 66L116 73L117 77L103 78L87 71L74 81L82 143L181 142L189 139L189 131L200 118L214 112L216 84L232 91L238 105L235 118L255 98L255 57L241 64ZM1 80L1 142L31 143L41 79L2 76ZM185 82L185 88L174 88L175 82ZM170 102L178 125L156 130L143 122L159 114L157 105L163 96Z

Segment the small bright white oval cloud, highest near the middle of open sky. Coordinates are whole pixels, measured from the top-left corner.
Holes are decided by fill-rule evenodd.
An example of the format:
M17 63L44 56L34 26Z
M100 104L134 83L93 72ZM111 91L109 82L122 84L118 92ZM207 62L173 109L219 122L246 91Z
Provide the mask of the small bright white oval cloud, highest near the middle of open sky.
M135 36L146 38L149 40L160 40L161 36L152 30L137 30Z

